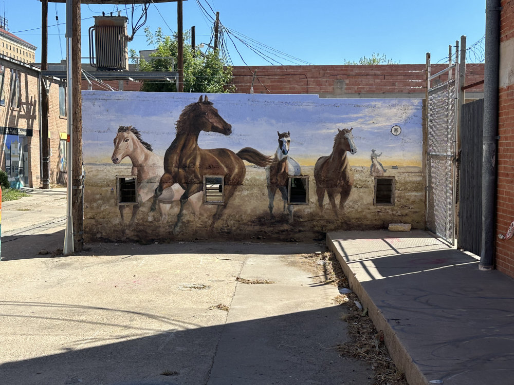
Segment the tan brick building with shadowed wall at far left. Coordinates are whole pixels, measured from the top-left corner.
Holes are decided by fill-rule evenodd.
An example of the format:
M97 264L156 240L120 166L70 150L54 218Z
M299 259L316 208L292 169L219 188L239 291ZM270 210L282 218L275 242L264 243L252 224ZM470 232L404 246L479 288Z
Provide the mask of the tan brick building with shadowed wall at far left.
M26 187L41 185L40 82L39 68L0 56L0 168ZM57 80L49 85L50 183L65 183L64 88Z

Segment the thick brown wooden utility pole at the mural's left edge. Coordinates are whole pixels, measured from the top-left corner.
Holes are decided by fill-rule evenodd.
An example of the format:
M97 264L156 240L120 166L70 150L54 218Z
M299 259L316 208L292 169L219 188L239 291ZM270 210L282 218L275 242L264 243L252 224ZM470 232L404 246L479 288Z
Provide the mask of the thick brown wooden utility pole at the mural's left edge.
M84 227L84 175L82 172L82 97L81 97L81 52L80 52L80 0L72 1L71 67L72 67L72 111L73 122L73 166L71 216L73 218L73 245L76 252L82 251ZM68 114L69 115L69 114Z

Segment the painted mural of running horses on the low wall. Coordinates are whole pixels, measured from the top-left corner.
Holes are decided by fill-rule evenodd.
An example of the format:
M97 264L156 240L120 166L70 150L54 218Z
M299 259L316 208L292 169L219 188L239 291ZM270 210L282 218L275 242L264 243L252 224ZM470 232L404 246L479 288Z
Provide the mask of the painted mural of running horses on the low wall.
M311 240L391 222L423 227L421 108L411 99L83 91L86 238ZM389 207L373 204L380 171L396 179ZM130 175L138 197L126 220L116 177ZM204 203L212 176L223 177L223 204ZM294 218L291 177L310 191Z

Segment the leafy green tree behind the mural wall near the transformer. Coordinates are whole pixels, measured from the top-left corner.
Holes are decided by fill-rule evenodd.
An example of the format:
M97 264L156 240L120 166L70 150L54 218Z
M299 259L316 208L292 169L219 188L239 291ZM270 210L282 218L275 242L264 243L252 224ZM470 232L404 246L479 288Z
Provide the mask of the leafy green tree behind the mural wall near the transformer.
M166 36L162 34L159 27L153 34L150 28L144 29L146 41L155 47L155 53L151 53L148 62L140 60L139 69L141 71L176 71L176 57L178 52L177 34ZM189 33L184 34L183 43L183 63L184 63L184 92L233 92L234 85L228 85L232 81L232 67L225 67L219 58L217 51L202 55L196 51L193 56L191 45L187 43ZM131 49L131 57L135 61L136 51ZM157 59L159 57L173 57L172 59ZM175 82L163 81L143 81L141 91L176 92Z

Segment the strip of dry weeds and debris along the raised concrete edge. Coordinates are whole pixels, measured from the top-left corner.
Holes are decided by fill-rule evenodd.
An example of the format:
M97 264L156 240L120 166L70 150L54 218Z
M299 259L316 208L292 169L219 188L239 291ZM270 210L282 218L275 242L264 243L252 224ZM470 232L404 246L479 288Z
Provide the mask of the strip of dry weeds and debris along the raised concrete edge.
M341 265L334 253L325 252L321 255L304 255L309 265L315 266L324 274L324 283L348 287ZM351 341L337 346L338 352L345 357L352 357L368 363L375 372L375 385L408 385L405 375L396 369L383 342L382 331L377 332L368 309L359 309L355 301L359 298L355 293L339 294L333 301L345 306L347 314L341 317L348 323L348 335Z

